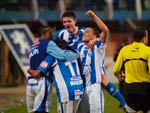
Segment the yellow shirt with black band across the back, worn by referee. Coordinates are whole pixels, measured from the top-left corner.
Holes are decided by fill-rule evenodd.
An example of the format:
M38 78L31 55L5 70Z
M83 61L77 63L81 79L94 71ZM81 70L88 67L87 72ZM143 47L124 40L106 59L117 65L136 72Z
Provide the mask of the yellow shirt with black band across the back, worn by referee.
M124 46L114 65L114 74L119 76L123 67L126 83L150 82L150 47L140 42Z

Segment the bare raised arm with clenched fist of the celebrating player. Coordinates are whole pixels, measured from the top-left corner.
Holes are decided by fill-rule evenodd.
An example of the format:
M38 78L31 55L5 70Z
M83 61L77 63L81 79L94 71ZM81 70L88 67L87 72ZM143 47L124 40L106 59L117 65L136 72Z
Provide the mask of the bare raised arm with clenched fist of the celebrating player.
M105 43L108 38L109 38L109 29L108 27L104 24L104 22L91 10L88 10L85 13L86 16L91 17L94 19L95 23L97 24L97 26L100 28L101 32L101 40Z

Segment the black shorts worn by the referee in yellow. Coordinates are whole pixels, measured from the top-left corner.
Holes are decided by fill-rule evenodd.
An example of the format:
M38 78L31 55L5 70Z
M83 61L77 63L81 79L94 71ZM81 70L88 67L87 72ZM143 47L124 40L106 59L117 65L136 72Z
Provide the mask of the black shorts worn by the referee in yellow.
M136 111L150 110L150 83L125 83L124 97L128 106Z

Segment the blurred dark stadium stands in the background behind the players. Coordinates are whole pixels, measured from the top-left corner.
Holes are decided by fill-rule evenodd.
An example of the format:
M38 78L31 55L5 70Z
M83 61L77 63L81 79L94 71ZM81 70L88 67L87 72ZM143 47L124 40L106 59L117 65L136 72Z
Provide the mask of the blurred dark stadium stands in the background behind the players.
M117 82L112 73L114 54L132 29L143 26L150 31L150 0L0 0L0 25L25 23L33 35L40 25L55 31L62 28L61 15L72 10L77 25L95 27L84 13L93 10L109 27L111 40L106 50L108 79ZM26 78L3 37L0 37L0 85L18 86Z

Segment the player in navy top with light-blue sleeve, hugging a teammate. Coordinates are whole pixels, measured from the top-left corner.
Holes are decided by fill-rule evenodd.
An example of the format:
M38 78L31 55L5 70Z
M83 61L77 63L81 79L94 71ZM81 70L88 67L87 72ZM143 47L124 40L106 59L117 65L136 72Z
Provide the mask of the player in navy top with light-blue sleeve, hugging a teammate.
M53 50L49 54L62 61L74 60L78 57L78 55L74 52L63 52L60 48L58 48L58 46L51 40L52 29L49 26L42 26L38 32L40 34L40 40L36 39L34 41L34 45L31 46L29 51L31 69L36 69L42 60L44 60L47 55L47 47L49 46L49 48ZM39 80L36 80L35 78L29 76L27 83L27 107L29 112L49 111L51 104L49 82L50 81L48 81L45 77L40 77ZM49 99L48 102L47 99Z

